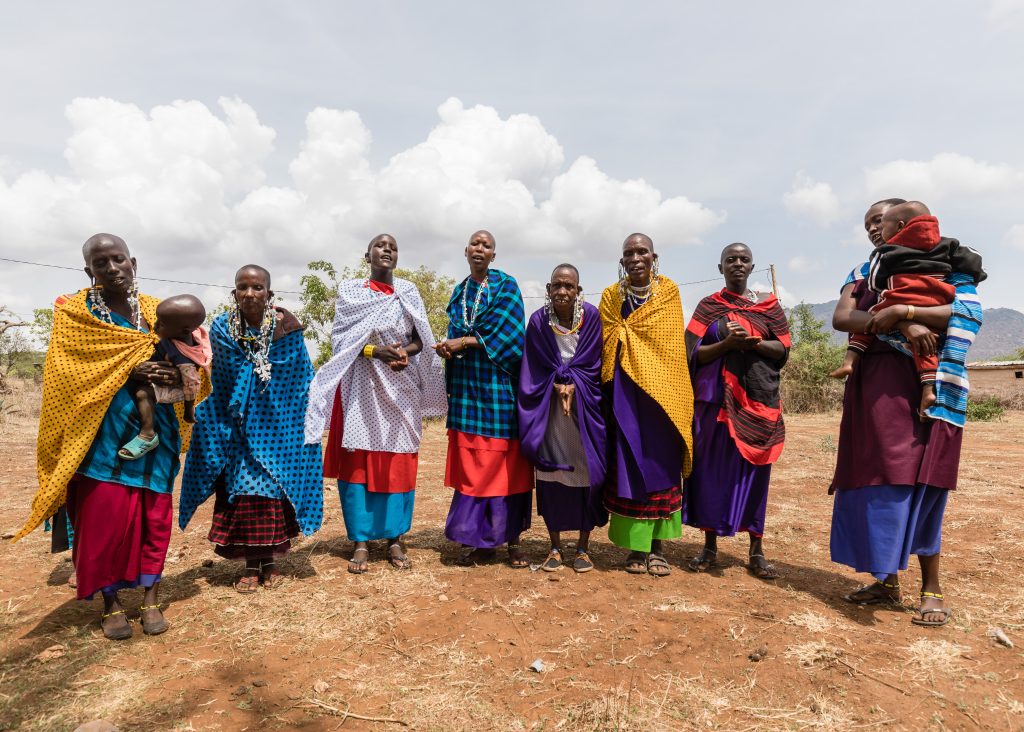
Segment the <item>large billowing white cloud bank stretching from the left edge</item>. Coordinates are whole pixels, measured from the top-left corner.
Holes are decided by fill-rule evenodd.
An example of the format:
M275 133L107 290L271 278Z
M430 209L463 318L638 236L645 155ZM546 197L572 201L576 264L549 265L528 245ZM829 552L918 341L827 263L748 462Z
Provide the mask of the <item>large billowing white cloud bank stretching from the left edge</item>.
M146 113L108 98L72 101L70 175L0 166L0 251L77 265L78 245L104 230L126 239L143 274L210 282L258 261L279 286L279 271L280 282L294 279L312 259L354 264L381 230L398 238L403 265L462 271L462 244L485 227L515 271L517 258L539 254L613 262L633 230L662 249L699 243L724 220L643 180L611 178L591 158L566 167L537 117L502 118L456 98L422 142L379 169L359 115L317 107L288 178L270 184L274 130L238 98L218 104ZM14 285L0 278L0 292Z

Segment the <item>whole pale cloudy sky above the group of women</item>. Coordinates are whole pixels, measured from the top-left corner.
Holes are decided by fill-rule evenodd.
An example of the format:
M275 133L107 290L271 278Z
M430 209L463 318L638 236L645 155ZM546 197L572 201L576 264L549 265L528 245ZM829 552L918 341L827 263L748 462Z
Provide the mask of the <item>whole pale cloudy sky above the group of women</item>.
M732 242L790 306L834 299L901 197L1024 309L1022 37L1024 0L12 4L0 258L79 268L109 231L197 283L144 292L213 307L256 262L295 307L309 261L386 231L462 278L486 228L532 310L562 261L596 302L643 231L687 312ZM23 315L87 284L0 261Z

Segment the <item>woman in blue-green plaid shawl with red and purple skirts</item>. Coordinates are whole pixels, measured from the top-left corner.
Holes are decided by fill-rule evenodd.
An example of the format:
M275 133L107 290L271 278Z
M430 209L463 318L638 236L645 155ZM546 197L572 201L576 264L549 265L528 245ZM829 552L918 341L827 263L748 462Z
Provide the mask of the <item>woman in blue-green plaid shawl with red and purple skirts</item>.
M534 471L519 453L515 392L523 347L519 286L489 269L495 238L469 239L469 276L449 302L447 339L437 353L447 359L449 451L444 484L455 488L444 535L471 548L460 562L471 566L508 544L509 565L528 566L519 534L529 528Z

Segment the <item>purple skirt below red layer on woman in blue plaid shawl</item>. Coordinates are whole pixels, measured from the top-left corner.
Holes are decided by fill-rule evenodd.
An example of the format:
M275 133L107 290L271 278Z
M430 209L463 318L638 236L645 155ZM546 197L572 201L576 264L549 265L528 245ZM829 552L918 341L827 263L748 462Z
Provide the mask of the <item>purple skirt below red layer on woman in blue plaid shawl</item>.
M518 544L519 534L529 528L532 510L531 490L483 499L457 490L444 522L444 535L449 541L477 549Z

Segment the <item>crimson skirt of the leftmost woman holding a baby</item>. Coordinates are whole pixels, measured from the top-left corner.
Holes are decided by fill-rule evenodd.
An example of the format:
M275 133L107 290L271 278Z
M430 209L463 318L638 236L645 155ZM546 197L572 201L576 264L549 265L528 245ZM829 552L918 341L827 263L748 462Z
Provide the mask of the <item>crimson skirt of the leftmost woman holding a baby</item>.
M75 528L79 600L160 582L171 543L170 493L75 475L68 484L68 515Z

